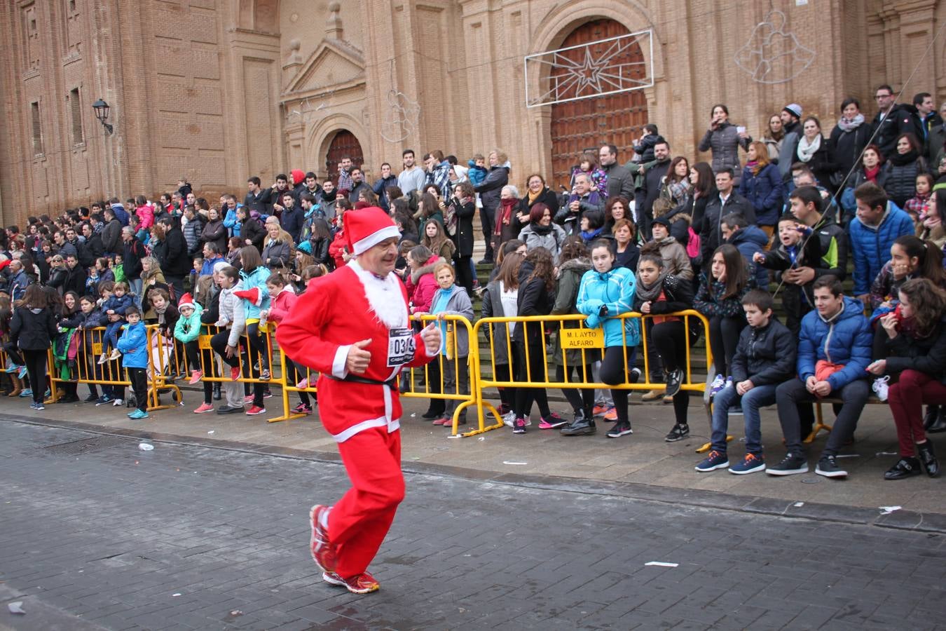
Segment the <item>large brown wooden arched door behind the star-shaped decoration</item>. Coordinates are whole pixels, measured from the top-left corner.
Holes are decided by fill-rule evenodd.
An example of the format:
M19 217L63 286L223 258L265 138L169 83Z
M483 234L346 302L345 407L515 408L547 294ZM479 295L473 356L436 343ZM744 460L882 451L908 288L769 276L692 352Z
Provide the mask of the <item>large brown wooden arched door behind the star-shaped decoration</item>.
M630 31L620 22L598 19L578 26L561 47L580 46L610 37L626 35ZM587 47L566 50L560 54L576 63L593 63L607 53L609 44L596 44ZM638 44L613 58L610 63L631 63L644 61ZM639 79L646 76L645 66L640 63L634 72L639 72ZM578 93L578 83L571 88L571 93L558 96L558 99L583 96ZM631 145L638 138L641 128L647 124L647 98L642 90L632 90L616 95L592 96L565 103L552 105L552 182L568 185L571 167L578 164L581 154L586 149L597 152L598 146L609 143L617 145L619 160L625 161L631 156Z

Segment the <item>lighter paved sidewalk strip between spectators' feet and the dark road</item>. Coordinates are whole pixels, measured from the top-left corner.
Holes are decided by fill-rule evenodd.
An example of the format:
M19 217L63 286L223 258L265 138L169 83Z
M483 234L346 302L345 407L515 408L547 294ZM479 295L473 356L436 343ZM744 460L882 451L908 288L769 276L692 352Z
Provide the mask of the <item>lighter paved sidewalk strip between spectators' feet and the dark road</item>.
M84 388L80 390L84 391ZM639 401L639 394L634 394L633 400ZM305 420L266 422L266 418L281 412L278 396L266 400L268 414L254 417L191 413L200 403L196 392L185 391L184 401L186 405L177 410L152 412L147 421L131 421L124 408L56 404L46 406L44 412L32 412L26 399L7 399L0 401L0 418L9 412L25 417L89 423L106 429L160 432L201 442L230 441L235 447L252 444L254 448L297 449L329 460L338 457L335 442L322 429L317 413ZM659 403L633 404L631 420L634 433L615 440L604 436L610 424L602 421L599 421L599 431L594 436L565 438L553 430L537 429L537 416L525 435L513 435L510 429L504 428L488 431L479 437L453 439L447 437L447 429L431 426L421 419L427 408L427 399L404 397L402 402L405 410L402 421L403 460L408 466L429 466L466 477L513 475L541 480L554 476L577 481L613 482L624 485L628 495L641 497L641 493L652 490L668 500L674 497L683 501L702 498L697 503L711 503L712 500L706 498L712 497L718 497L720 503L731 503L727 496L767 499L777 502L773 504L773 512L777 513L782 512L779 507L792 507L794 510L796 502L805 502L827 507L857 507L873 511L874 515L879 515L878 507L901 506L904 514L946 516L946 477L931 480L921 476L899 482L883 479L884 471L897 460L896 431L889 408L883 405L870 405L865 409L856 432L856 443L842 452L840 461L849 468L850 477L838 481L814 473L818 454L824 447L825 433L808 447L812 472L807 475L779 479L762 473L748 476L735 476L726 471L697 473L693 465L702 456L694 453L694 449L709 440L709 423L695 396L690 409L691 437L673 444L663 441L663 436L673 426L673 411L670 406ZM553 404L552 408L565 412L567 406ZM830 406L825 406L825 413L826 422L830 424ZM472 413L470 418L473 418ZM738 442L743 435L742 424L742 416L730 417L729 433L737 437L730 444L730 460L742 458L745 452ZM770 462L778 462L784 451L774 408L763 412L762 426L767 457ZM946 434L937 434L933 440L940 455L946 458ZM626 489L637 490L630 492ZM839 514L843 517L844 512ZM817 513L812 516L837 517L819 516ZM920 521L926 525L932 523L923 517L903 519L905 525ZM946 521L938 523L946 524Z

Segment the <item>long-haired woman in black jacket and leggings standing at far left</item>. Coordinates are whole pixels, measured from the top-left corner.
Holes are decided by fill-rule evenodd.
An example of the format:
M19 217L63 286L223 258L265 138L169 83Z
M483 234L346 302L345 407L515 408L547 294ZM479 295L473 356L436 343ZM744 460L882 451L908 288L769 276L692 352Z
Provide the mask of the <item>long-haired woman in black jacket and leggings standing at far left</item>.
M23 353L29 384L33 389L33 402L29 406L33 410L44 410L46 354L58 333L48 294L43 287L30 285L26 288L23 304L13 311L9 337Z

